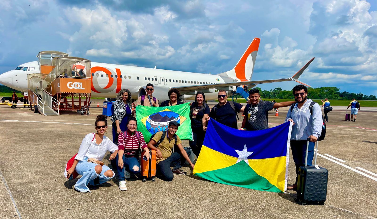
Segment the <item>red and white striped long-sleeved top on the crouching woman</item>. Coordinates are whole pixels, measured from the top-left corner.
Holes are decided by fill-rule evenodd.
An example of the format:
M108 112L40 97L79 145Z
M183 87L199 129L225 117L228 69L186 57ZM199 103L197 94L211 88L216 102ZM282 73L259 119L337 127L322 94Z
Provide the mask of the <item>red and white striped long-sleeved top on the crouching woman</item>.
M127 134L126 134L127 132ZM124 136L126 136L124 139ZM144 141L143 134L140 131L135 131L135 133L130 133L130 131L124 131L118 136L118 150L124 150L124 156L135 157L139 150L139 144L141 150L147 148L147 144Z

